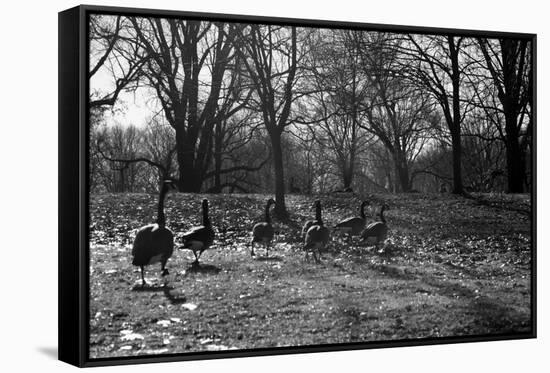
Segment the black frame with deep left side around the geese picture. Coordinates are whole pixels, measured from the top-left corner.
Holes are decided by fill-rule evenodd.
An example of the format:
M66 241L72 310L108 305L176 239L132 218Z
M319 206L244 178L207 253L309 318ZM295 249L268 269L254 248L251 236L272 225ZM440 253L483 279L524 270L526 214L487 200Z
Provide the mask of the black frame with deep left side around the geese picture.
M471 337L426 338L399 341L361 342L257 348L235 351L208 351L120 358L90 359L89 350L89 185L88 185L88 17L90 14L178 17L196 20L224 20L324 28L368 29L373 31L414 32L419 34L513 37L533 44L534 131L531 159L531 331L526 333L479 335ZM173 362L198 359L235 358L263 355L328 352L370 348L435 345L536 338L536 40L535 34L498 31L459 30L417 26L381 25L272 18L155 9L81 5L59 13L59 360L79 367Z

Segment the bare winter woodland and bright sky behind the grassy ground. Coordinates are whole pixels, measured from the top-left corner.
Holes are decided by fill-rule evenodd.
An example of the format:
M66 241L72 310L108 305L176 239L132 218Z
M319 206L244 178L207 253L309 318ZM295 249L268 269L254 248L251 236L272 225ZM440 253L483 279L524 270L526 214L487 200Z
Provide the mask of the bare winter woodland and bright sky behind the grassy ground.
M530 190L530 37L103 15L89 37L93 193L173 178L282 216L289 192ZM145 125L111 120L121 93Z

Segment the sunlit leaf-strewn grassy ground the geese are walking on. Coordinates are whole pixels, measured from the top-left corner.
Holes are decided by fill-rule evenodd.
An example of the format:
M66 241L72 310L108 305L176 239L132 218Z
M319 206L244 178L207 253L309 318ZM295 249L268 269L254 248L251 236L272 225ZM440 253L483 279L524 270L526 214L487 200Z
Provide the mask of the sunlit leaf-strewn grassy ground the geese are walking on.
M216 247L176 250L171 271L131 265L136 229L154 221L156 196L91 198L90 357L181 353L404 338L527 332L529 196L377 195L390 227L383 250L334 239L321 264L304 260L301 224L314 197L288 196L270 258L249 254L264 195L210 195ZM166 203L177 234L200 224L203 196ZM326 196L328 226L357 215L359 200Z

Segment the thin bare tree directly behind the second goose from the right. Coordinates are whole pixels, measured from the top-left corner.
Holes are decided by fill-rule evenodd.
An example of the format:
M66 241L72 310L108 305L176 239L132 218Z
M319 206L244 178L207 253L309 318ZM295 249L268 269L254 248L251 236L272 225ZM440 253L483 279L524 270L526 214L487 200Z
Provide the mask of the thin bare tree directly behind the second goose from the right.
M314 36L309 38L311 87L302 106L309 107L304 115L310 118L313 139L328 146L347 190L372 138L361 127L367 84L361 74L360 46L355 42L357 32L320 30Z

